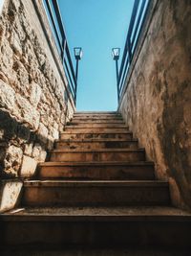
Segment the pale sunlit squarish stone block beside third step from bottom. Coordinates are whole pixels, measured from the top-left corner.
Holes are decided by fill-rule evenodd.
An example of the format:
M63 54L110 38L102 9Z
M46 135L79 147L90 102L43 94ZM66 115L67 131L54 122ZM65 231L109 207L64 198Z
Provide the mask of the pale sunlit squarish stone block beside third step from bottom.
M35 174L37 162L30 156L24 155L20 175L30 177Z

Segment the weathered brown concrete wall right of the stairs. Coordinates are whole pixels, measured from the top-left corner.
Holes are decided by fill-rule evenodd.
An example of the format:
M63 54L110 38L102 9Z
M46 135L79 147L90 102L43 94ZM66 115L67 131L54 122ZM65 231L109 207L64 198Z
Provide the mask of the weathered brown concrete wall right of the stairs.
M170 181L174 204L191 208L191 2L155 2L119 111Z

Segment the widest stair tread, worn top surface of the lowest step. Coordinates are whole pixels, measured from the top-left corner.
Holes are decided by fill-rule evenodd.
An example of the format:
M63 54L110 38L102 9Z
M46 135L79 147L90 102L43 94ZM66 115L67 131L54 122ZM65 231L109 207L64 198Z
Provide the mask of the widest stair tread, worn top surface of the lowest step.
M57 221L57 218L63 221L76 221L77 218L79 221L191 221L191 213L173 206L25 207L1 214L3 221L25 221L31 217L35 217L33 220L42 220L40 217L49 218L50 221Z

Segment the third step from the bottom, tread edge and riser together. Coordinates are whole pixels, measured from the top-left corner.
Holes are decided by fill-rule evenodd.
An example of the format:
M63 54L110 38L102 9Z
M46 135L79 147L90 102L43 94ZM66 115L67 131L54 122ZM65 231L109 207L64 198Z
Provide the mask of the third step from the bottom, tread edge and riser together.
M39 165L39 178L155 179L152 162L46 162Z

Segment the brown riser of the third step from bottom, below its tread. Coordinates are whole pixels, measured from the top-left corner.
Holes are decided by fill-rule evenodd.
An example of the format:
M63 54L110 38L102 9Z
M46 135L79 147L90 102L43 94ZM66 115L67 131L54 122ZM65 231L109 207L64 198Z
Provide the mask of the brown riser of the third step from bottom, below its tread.
M153 166L44 166L39 178L66 179L155 179Z

